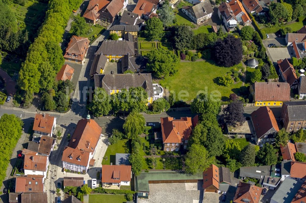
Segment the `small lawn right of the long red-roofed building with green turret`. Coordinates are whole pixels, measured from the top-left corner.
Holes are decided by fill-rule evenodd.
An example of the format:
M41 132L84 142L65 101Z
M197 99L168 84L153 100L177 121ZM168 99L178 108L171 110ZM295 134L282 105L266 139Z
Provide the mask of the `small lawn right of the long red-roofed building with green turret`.
M109 165L110 162L115 165L116 153L131 153L129 140L119 140L118 143L109 145L105 152L102 165Z

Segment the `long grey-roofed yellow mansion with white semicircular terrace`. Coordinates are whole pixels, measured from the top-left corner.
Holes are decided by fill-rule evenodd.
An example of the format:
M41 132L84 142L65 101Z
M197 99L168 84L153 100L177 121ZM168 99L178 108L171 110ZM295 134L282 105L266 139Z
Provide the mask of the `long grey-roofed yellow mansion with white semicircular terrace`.
M95 88L103 87L109 95L121 92L123 89L129 91L130 87L143 87L148 93L148 106L163 95L163 88L159 84L153 84L151 73L96 74L94 81Z

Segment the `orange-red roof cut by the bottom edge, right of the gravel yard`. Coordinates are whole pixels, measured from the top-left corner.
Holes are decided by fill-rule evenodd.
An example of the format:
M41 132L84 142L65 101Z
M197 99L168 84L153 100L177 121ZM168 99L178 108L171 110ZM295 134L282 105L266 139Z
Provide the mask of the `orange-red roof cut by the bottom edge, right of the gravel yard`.
M258 203L263 188L248 183L239 182L234 196L235 203ZM248 201L249 200L249 201Z

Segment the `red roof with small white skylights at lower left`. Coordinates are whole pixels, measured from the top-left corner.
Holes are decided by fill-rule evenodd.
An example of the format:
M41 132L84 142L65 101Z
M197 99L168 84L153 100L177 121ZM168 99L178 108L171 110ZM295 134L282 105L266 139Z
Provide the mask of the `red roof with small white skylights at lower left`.
M31 184L30 184L31 183ZM16 178L16 193L22 192L43 192L43 178L41 176L23 176Z

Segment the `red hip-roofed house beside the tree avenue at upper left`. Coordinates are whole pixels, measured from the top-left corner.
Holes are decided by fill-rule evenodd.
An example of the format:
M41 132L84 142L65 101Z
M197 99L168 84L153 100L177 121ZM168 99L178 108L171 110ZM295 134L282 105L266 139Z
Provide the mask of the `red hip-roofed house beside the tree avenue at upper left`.
M66 48L64 58L83 60L89 46L89 40L86 37L73 35ZM71 56L69 56L71 54ZM78 57L76 57L77 55Z

